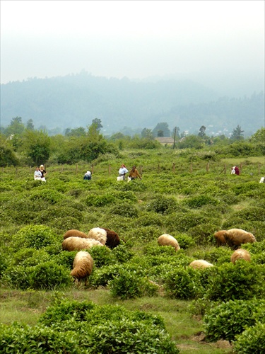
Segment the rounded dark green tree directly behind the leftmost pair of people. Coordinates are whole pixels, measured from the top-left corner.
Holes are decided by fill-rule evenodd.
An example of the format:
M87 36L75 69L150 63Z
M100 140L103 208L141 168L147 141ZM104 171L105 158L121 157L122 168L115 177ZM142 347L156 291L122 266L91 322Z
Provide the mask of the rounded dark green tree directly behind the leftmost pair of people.
M35 165L45 164L49 159L51 139L42 130L25 130L23 149L30 162Z

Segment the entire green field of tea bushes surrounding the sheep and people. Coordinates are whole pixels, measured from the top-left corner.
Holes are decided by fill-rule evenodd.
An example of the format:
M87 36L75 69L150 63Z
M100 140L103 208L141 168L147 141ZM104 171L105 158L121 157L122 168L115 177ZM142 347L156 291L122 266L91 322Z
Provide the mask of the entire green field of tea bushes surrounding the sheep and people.
M142 180L117 181L122 163ZM0 171L1 353L264 353L264 157L124 150L45 167L46 183L34 168ZM94 227L121 243L89 249L93 272L77 284L64 233ZM256 237L242 245L250 262L216 246L232 228ZM158 246L162 234L180 250ZM196 259L213 267L194 270Z

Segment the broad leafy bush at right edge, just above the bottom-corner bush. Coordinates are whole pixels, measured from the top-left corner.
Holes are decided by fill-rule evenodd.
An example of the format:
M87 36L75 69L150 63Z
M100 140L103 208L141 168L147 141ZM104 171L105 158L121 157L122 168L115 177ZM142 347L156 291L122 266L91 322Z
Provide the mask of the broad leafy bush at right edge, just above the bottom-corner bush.
M230 300L206 312L204 327L211 341L233 341L246 327L265 319L265 300Z

